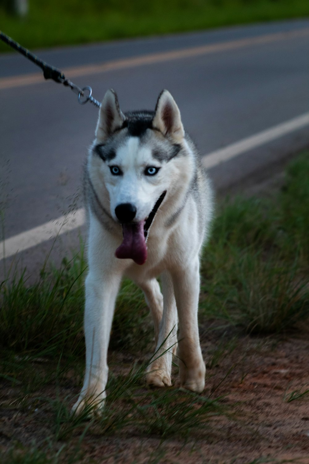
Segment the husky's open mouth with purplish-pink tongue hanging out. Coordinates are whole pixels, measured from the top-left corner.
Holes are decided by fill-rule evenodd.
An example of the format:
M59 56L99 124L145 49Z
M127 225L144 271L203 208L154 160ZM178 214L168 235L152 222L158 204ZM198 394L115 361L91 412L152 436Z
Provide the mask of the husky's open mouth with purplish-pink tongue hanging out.
M166 190L160 195L148 218L140 222L122 224L122 244L115 251L116 258L133 259L136 264L144 264L147 259L146 238L151 223L161 205Z

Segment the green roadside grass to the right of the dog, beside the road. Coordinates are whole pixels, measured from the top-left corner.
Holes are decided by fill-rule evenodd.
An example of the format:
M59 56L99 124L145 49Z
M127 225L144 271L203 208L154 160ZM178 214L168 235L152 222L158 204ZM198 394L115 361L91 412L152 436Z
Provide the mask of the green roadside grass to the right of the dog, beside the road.
M249 333L282 332L309 316L309 154L273 199L221 206L204 252L201 308Z

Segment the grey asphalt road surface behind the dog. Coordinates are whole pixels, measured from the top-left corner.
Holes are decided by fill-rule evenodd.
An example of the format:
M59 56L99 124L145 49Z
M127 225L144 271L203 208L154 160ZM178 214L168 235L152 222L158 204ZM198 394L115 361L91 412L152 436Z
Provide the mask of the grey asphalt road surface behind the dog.
M188 48L191 50L186 51ZM153 109L170 90L201 155L309 111L309 21L117 41L38 52L101 100ZM0 55L0 195L5 237L82 206L81 171L98 110L24 57ZM309 126L262 143L209 170L217 189L309 146ZM3 207L2 207L3 209ZM34 250L28 252L34 256ZM34 254L33 254L34 253ZM39 258L36 258L39 261Z

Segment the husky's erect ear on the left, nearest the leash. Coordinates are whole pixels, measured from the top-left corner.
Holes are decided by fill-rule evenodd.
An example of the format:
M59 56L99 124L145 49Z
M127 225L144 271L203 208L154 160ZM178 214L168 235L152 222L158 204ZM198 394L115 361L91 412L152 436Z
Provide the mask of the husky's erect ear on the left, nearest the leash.
M119 129L126 117L119 108L117 94L113 89L107 90L99 112L99 120L95 130L95 136L100 142L104 142L109 135Z

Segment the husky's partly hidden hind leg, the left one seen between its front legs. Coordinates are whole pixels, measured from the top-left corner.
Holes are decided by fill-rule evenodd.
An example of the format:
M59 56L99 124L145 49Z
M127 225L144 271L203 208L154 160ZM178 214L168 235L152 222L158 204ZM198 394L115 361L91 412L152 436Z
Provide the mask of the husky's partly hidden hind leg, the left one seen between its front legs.
M143 290L145 301L151 312L157 346L159 327L163 314L163 295L160 290L160 285L157 279L146 280L145 282L138 282L137 284Z

